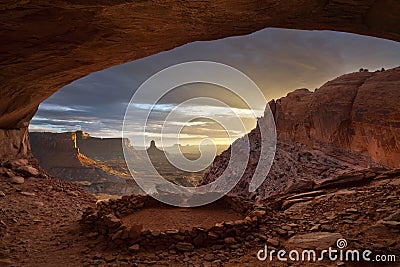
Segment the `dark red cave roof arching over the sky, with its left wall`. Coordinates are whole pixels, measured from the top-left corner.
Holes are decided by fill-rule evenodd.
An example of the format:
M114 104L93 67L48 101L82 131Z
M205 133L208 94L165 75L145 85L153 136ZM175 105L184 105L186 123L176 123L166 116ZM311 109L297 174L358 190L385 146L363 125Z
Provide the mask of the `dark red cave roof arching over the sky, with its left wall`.
M90 73L189 42L268 27L334 30L399 41L399 13L395 0L2 4L0 156L31 157L27 129L38 105Z

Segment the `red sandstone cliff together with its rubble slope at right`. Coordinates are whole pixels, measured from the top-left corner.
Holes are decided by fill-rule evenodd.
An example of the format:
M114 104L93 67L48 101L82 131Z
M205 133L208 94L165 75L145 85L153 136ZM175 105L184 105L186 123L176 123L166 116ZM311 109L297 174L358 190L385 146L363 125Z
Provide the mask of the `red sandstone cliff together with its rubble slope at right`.
M399 84L400 68L351 73L327 82L315 92L299 89L271 101L278 136L271 170L255 194L250 193L249 183L261 151L257 127L247 135L250 142L247 168L232 193L267 198L342 183L362 183L368 180L365 177L369 171L377 173L379 169L398 167ZM263 123L263 118L259 123ZM239 147L246 145L243 139L236 143ZM201 184L221 176L230 153L228 149L216 157ZM245 153L238 156L247 160ZM234 174L240 170L230 171ZM350 181L346 180L346 173L350 173L347 176Z

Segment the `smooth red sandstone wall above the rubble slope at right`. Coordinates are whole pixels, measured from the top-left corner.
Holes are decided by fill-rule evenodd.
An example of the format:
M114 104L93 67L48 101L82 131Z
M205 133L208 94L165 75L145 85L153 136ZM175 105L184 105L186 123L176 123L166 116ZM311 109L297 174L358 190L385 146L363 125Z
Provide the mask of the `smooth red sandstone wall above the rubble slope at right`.
M272 101L278 137L327 143L400 167L400 68L360 72Z

